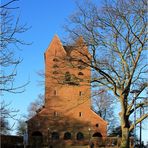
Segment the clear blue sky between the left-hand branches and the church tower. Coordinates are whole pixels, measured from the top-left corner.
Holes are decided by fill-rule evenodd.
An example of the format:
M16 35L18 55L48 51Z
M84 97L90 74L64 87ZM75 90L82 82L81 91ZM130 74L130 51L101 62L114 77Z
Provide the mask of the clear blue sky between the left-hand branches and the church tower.
M4 0L3 2L8 1ZM16 85L30 82L23 93L5 93L1 98L11 102L12 107L19 109L18 118L27 114L27 108L38 94L44 93L44 87L39 85L41 78L37 72L44 69L44 52L53 36L57 34L61 39L66 34L63 29L66 18L76 8L74 0L20 0L16 2L20 7L14 13L20 17L20 23L27 24L30 29L20 37L31 45L21 46L17 56L23 59L17 67ZM146 141L146 132L143 140Z

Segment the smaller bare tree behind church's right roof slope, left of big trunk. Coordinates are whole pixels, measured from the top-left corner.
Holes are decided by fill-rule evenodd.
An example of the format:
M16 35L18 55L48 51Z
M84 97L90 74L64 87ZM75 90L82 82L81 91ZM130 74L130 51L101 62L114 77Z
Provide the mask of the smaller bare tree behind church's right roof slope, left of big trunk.
M114 106L115 99L104 89L93 90L92 92L92 108L93 110L108 122L108 133L117 125L117 117L115 115Z

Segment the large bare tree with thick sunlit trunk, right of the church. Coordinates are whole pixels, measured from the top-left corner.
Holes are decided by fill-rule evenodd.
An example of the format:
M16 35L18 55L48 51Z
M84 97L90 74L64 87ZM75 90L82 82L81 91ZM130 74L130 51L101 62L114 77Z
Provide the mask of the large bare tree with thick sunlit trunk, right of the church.
M130 123L136 110L147 106L147 98L138 97L147 87L147 2L146 0L107 0L99 8L89 1L77 3L78 10L65 25L69 38L83 36L91 57L79 53L92 68L92 85L104 86L112 91L120 102L120 121L122 128L122 148L129 148L129 132L134 129ZM81 47L83 49L83 47ZM133 98L130 92L138 93ZM147 118L145 112L136 124ZM133 120L132 120L133 121Z

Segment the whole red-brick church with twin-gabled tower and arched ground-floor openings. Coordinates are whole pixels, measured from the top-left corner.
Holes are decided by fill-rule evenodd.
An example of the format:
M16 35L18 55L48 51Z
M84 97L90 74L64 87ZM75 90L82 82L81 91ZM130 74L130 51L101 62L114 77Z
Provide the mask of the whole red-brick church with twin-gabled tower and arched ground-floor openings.
M107 122L91 109L91 70L81 62L91 56L82 44L80 37L64 46L55 35L45 52L45 104L27 121L34 147L88 145L93 137L107 136Z

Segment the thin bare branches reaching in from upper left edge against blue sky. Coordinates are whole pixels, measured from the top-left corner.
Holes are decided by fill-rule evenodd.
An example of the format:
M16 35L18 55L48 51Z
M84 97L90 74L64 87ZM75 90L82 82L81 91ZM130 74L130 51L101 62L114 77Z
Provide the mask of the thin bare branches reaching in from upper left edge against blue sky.
M19 17L15 17L13 11L19 7L15 3L19 0L9 0L0 4L0 91L2 92L23 92L24 86L15 86L14 81L17 76L16 68L22 59L16 57L15 49L20 45L27 45L18 35L26 32L26 25L21 25Z

